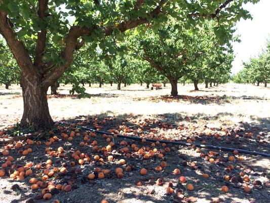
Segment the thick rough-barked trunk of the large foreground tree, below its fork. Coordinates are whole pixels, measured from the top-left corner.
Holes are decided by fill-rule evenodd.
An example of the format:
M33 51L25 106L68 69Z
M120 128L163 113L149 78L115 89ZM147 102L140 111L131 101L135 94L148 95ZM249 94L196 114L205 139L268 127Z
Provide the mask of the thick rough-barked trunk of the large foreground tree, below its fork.
M22 76L23 115L22 126L31 125L34 129L50 129L54 122L47 101L48 88L41 87L41 78Z

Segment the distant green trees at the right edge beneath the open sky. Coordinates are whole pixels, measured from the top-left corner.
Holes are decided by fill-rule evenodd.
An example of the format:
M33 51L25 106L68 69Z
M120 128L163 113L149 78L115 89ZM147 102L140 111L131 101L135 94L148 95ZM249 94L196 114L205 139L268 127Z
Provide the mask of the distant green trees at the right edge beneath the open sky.
M270 41L261 54L243 62L243 66L244 68L234 76L234 82L257 86L264 83L264 87L267 87L267 83L270 82Z

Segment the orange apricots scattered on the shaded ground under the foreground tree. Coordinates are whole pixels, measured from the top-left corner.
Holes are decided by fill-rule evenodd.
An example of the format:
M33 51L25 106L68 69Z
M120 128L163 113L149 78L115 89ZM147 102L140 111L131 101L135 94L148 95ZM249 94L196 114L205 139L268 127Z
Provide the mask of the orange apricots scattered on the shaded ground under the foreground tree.
M96 134L80 126L91 126L98 130L106 128L114 136ZM0 137L9 137L7 132L0 131ZM94 184L95 180L133 176L136 187L147 184L163 186L164 194L174 202L197 201L193 196L205 189L198 186L203 181L208 185L213 182L220 184L218 190L224 194L231 189L242 190L247 195L252 194L253 190L267 194L270 187L268 175L244 166L242 161L246 157L237 150L221 153L193 146L188 148L192 152L186 155L179 153L183 147L159 142L184 140L191 144L218 142L231 145L238 139L255 137L258 141L253 144L260 143L267 148L269 145L263 140L263 135L255 136L253 132L232 133L224 127L208 128L193 124L175 127L159 120L136 120L131 116L121 123L113 117L100 121L93 117L71 125L56 123L55 129L48 133L50 138L45 141L32 138L7 144L0 155L0 177L26 182L34 199L52 199L59 192L70 192L80 188L81 184ZM117 138L119 133L155 139L156 143L148 143L144 139L142 142L121 140ZM192 158L192 155L195 156ZM175 158L180 160L177 162L180 164L176 164ZM212 170L216 173L213 174ZM168 178L174 181L168 181ZM154 192L147 190L148 194ZM55 199L54 202L59 200ZM110 200L102 199L101 202Z

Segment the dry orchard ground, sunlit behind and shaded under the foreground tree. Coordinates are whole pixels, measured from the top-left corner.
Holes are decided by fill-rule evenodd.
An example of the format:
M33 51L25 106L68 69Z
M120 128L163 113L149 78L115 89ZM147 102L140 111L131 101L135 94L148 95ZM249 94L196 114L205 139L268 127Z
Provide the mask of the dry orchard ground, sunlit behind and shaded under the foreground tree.
M269 87L230 83L212 88L199 85L200 91L194 91L192 85L178 84L179 96L171 97L170 87L168 84L167 86L162 90L150 90L145 86L131 85L116 90L115 84L112 87L105 85L102 88L94 85L86 87L86 92L92 94L91 98L79 99L68 95L70 86L61 85L58 90L61 95L49 95L48 103L55 121L80 122L89 127L98 124L98 128L104 131L121 130L119 127L121 125L131 129L131 135L133 130L141 129L140 136L144 137L159 134L163 138L181 142L195 138L195 143L205 141L210 145L270 153ZM21 89L13 85L6 90L4 86L0 86L0 129L19 122L22 111ZM69 134L71 129L66 130ZM80 137L75 136L72 141L68 141L60 136L61 131L54 131L59 140L49 148L51 151L57 151L58 147L63 147L64 157L47 155L45 141L38 146L23 142L23 149L32 148L32 152L25 156L19 154L15 148L9 150L9 155L15 159L13 164L19 166L29 161L43 164L40 170L32 167L34 174L32 176L36 178L43 176L44 164L49 158L53 160L53 167L66 164L67 173L59 177L56 173L50 180L55 180L56 184L71 184L73 189L70 192L53 191L57 194L54 194L51 200L34 199L35 202L53 202L54 199L59 199L60 202L100 202L104 198L109 202L270 202L269 158L237 154L234 155L235 161L228 161L228 157L233 155L231 152L207 149L196 152L191 147L170 145L167 146L170 152L162 152L165 156L159 158L158 155L165 147L157 145L158 152L155 156L144 159L142 155L135 153L130 145L134 143L140 149L150 146L151 143L127 141L127 145L122 146L120 142L123 139L115 138L113 151L109 152L114 160L108 161L104 153L96 151L93 146L80 146L80 142L84 141L84 132L80 130ZM99 149L108 144L100 135L90 138L89 144L94 140L97 141ZM129 148L131 157L127 157L123 147ZM4 146L0 146L0 151L3 149ZM75 160L77 171L74 171L69 162L74 161L71 154L76 150L88 154L91 161L80 166ZM209 151L215 151L217 154L213 155L210 152L209 155ZM205 160L201 154L214 158L214 162ZM94 161L94 155L99 155L104 162ZM0 155L0 166L6 157ZM121 165L120 159L125 159L126 164ZM156 172L155 167L161 161L166 161L167 167L163 168L162 172ZM132 167L131 172L125 172L127 165ZM229 165L233 169L229 170ZM96 178L92 181L85 179L95 167L102 170L109 169L111 172L104 179ZM117 167L124 169L124 178L119 179L115 175ZM143 167L147 170L146 176L140 175ZM175 168L179 168L180 175L172 174ZM0 178L1 203L25 202L27 198L36 197L41 193L41 189L35 191L30 189L31 184L28 181L31 177L12 180L8 178L9 172L12 172L10 167L5 168L5 171L6 175ZM240 172L248 175L250 181L243 181L243 177L239 176ZM208 174L209 178L203 178L203 173ZM225 175L229 176L230 180L225 181L223 179ZM187 183L194 186L194 190L188 191L187 183L180 183L179 176L185 176ZM156 185L158 178L163 179L164 186ZM254 185L255 180L259 180L262 185ZM142 183L141 186L137 186L139 181ZM166 195L166 186L169 182L174 193ZM18 184L19 189L11 189L14 184ZM227 193L221 191L223 185L228 187ZM252 192L244 192L244 186L249 186Z

